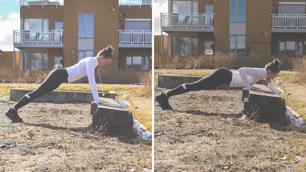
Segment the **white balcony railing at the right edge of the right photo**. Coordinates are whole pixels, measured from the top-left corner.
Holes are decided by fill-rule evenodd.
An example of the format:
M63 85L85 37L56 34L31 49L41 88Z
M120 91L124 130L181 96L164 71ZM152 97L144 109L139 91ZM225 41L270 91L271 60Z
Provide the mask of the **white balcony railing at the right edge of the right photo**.
M305 14L271 14L274 28L306 28Z

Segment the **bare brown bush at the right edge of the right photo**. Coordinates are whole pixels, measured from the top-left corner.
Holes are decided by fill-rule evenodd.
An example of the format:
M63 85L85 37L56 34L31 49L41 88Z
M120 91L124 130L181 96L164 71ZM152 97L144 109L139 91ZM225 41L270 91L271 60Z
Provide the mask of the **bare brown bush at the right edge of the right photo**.
M290 59L291 67L297 72L297 77L303 83L306 82L306 56Z

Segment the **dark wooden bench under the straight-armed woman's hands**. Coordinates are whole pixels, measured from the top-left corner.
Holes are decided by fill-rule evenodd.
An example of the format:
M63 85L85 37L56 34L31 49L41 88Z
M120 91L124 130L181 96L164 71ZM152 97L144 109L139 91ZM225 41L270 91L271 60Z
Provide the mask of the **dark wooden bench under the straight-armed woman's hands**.
M110 105L96 104L91 102L92 127L110 128L112 131L118 129L132 129L133 114L122 107L115 100L100 97L101 100L107 101Z

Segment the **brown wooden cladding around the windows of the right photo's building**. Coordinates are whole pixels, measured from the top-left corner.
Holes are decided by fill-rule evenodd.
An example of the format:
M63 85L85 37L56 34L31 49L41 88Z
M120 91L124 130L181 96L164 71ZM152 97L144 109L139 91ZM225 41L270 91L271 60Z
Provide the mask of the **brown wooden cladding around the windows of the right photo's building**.
M168 1L169 13L172 13L172 1ZM296 0L296 1L286 1L286 0L246 0L245 1L245 22L231 22L230 21L230 1L229 0L199 0L198 13L205 13L204 4L214 4L214 18L211 21L213 23L212 32L202 31L202 32L191 32L190 29L186 28L185 31L180 29L179 31L169 31L169 28L166 26L162 27L165 29L165 32L168 33L169 41L169 51L168 54L171 54L171 40L173 37L193 37L198 38L197 48L198 55L204 53L204 41L214 41L215 51L220 51L222 53L229 53L230 51L230 36L245 36L245 56L249 56L250 53L256 54L259 61L259 67L264 67L265 64L271 62L274 58L283 59L287 61L290 57L279 56L279 42L282 41L301 41L303 43L303 55L306 55L306 45L304 44L306 38L305 28L298 28L300 31L294 30L285 30L284 31L273 31L273 20L271 14L278 14L279 2L306 2L305 0ZM304 5L305 6L305 5ZM304 14L306 14L306 8ZM166 13L166 12L164 12ZM234 33L233 34L233 24L243 26L245 25L245 33ZM180 26L179 26L180 27ZM173 28L179 28L175 26ZM232 27L232 28L231 28ZM181 27L182 28L182 27ZM296 29L296 28L295 28ZM304 29L304 30L303 30ZM178 30L178 29L177 29ZM232 32L231 32L232 31ZM160 42L160 39L159 39ZM157 45L157 44L155 44ZM160 46L160 45L159 45ZM157 47L155 47L158 50ZM160 49L160 48L159 48ZM292 56L291 56L292 57ZM247 66L247 58L239 61L239 65ZM286 63L286 62L285 62Z

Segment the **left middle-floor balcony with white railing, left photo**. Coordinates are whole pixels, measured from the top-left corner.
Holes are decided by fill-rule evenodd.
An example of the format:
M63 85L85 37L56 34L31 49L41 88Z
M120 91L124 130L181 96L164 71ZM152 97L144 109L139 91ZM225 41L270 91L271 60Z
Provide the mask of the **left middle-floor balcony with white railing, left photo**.
M13 31L15 47L63 47L63 30Z

